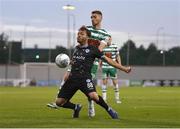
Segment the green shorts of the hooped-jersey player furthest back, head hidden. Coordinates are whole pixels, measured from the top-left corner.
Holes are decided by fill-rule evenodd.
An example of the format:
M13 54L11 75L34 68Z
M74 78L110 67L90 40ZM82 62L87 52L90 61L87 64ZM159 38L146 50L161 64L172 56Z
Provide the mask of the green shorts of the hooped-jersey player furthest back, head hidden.
M102 68L102 77L106 79L110 77L111 79L117 79L117 69L116 68Z

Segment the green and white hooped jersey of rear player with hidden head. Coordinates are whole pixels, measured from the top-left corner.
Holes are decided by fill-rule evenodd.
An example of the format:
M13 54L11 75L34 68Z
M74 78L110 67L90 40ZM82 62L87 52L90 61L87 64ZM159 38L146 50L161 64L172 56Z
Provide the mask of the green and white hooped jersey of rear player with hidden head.
M103 49L103 53L104 55L115 61L117 55L119 55L119 50L116 44L111 44L110 46L107 46ZM102 61L102 68L114 68L114 67Z

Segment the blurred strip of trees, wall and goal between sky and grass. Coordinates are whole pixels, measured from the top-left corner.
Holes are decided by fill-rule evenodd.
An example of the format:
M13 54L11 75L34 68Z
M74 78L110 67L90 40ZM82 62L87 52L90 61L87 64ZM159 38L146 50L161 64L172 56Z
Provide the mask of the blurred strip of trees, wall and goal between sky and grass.
M28 35L28 32L26 32ZM73 38L73 37L72 37ZM55 57L59 53L72 54L63 46L56 48L23 48L26 41L10 40L9 35L0 35L0 85L3 86L55 86L59 85L65 69L58 68ZM70 40L73 41L73 40ZM162 41L161 41L162 42ZM171 42L166 42L166 44ZM71 43L72 44L72 43ZM157 42L150 42L145 48L127 39L120 47L124 65L131 65L130 74L118 72L120 86L179 86L180 85L180 47L167 50L158 49ZM70 55L71 56L71 55ZM101 71L97 83L101 83Z

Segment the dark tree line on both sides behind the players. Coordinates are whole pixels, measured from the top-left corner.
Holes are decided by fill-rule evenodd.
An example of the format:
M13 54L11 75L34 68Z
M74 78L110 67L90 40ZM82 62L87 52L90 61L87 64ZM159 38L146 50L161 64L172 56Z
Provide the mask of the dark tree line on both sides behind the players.
M8 41L8 36L0 34L0 64L21 64L24 62L54 62L59 53L73 53L74 48L56 46L54 49L22 49L22 41ZM70 52L71 51L71 52ZM122 64L137 66L180 66L180 47L159 50L155 43L145 48L136 46L132 40L126 41L119 49Z

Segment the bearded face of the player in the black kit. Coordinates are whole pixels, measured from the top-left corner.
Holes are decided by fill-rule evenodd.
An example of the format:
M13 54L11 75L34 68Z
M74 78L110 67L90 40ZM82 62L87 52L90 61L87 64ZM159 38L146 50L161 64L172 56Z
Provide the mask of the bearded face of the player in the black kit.
M88 40L88 36L87 36L86 31L80 30L77 35L77 42L80 45L84 45L84 44L86 44L87 40Z

